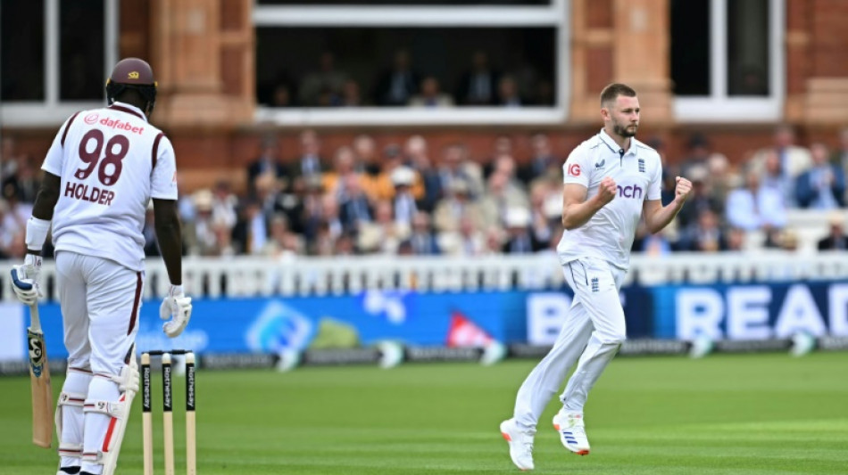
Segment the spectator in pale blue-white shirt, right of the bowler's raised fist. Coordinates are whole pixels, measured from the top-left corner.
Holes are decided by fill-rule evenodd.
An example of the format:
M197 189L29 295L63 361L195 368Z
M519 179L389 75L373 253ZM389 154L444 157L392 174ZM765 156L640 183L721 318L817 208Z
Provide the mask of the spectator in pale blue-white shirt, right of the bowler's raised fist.
M744 187L727 195L727 223L748 231L786 225L786 207L780 193L761 187L757 171L749 171L745 180Z

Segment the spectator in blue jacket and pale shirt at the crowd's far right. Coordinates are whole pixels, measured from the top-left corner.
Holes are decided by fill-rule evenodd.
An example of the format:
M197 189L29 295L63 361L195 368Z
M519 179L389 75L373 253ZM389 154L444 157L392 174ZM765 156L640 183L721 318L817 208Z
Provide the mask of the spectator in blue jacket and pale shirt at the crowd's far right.
M845 176L842 168L828 161L827 145L813 143L812 166L795 180L795 199L801 208L844 207Z

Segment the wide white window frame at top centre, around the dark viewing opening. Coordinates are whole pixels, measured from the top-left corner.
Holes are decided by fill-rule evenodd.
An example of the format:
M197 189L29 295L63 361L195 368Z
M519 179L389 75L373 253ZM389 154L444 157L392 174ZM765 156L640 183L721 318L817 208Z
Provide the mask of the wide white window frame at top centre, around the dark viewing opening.
M548 5L267 5L255 4L259 27L549 27L554 33L553 107L452 107L445 109L358 107L275 108L257 105L255 119L279 126L428 126L561 124L568 119L570 0Z

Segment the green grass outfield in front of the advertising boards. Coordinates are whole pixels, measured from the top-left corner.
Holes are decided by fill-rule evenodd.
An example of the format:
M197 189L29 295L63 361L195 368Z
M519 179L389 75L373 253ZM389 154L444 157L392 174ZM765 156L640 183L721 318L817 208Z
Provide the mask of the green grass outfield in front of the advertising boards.
M515 473L498 424L533 364L200 369L198 472ZM61 382L54 376L54 390ZM183 382L175 383L175 407L184 404ZM53 475L54 451L29 444L29 378L0 378L0 394L0 473ZM139 399L121 474L142 473ZM553 401L536 435L538 473L848 473L846 353L619 357L586 406L586 457L560 445L550 425L557 409ZM182 414L175 411L178 474L185 473Z

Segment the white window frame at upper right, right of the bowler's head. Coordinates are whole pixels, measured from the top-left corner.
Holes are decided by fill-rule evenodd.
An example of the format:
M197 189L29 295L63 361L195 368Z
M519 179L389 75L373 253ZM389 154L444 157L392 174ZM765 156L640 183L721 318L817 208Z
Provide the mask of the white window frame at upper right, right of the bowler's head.
M678 122L777 121L786 98L786 0L769 0L769 96L727 95L727 2L710 2L710 95L675 96Z

